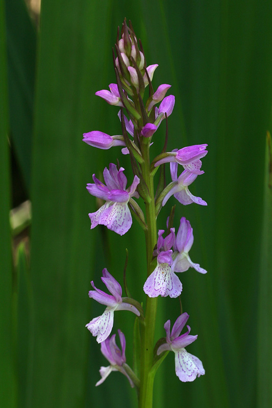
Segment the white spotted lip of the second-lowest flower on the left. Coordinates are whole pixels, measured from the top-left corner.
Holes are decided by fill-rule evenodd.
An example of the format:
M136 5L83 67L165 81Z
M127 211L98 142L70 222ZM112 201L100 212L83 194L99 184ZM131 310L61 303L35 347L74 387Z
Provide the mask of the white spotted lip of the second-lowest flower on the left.
M107 307L102 316L95 317L86 324L93 336L97 336L97 343L101 343L111 334L113 326L113 315L116 308Z

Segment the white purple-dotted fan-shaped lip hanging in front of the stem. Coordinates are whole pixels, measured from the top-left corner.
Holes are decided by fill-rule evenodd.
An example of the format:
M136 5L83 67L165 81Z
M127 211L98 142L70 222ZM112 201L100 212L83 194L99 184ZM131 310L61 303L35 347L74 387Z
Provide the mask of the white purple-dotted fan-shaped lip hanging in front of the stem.
M146 279L143 291L149 297L178 297L182 292L180 279L168 264L157 264L152 274Z

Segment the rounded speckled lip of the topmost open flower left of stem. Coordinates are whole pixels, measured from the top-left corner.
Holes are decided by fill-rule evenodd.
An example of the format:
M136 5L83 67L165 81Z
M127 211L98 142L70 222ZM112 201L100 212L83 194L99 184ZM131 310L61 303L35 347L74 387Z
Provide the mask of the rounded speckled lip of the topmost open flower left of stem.
M115 202L113 206L103 211L99 223L119 235L126 234L132 225L132 216L127 203Z

